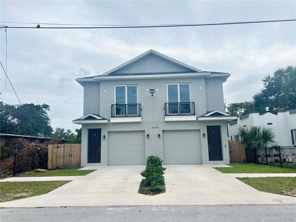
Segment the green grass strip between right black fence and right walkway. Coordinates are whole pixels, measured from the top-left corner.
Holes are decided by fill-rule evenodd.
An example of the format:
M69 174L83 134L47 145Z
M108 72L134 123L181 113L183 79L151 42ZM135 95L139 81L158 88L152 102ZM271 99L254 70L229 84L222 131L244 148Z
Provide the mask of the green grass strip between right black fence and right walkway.
M214 167L222 173L296 173L296 169L259 164L230 164L232 167Z

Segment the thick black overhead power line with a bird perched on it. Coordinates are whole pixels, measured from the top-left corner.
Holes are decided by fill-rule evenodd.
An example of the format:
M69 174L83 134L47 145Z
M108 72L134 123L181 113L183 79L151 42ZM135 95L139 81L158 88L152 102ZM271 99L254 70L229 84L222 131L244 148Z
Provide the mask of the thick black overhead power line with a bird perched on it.
M204 24L172 24L172 25L135 25L135 26L104 26L104 27L38 27L38 28L51 28L51 29L84 29L84 28L158 28L158 27L181 27L181 26L207 26L207 25L234 25L234 24L248 24L248 23L264 23L264 22L287 22L296 21L296 19L284 20L264 20L264 21L247 21L247 22L221 22L221 23L204 23ZM34 23L41 24L41 23ZM52 23L54 24L54 23ZM66 24L55 24L66 25ZM70 24L68 24L70 25ZM72 24L74 25L74 24ZM21 27L21 26L4 26L5 28L37 28L37 27Z

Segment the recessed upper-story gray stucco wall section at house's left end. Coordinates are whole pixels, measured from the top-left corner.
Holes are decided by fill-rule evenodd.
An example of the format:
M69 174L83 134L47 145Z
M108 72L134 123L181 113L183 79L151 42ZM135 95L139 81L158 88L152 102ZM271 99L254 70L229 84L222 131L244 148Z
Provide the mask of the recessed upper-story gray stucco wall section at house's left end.
M100 82L84 83L83 115L87 115L89 113L100 113Z

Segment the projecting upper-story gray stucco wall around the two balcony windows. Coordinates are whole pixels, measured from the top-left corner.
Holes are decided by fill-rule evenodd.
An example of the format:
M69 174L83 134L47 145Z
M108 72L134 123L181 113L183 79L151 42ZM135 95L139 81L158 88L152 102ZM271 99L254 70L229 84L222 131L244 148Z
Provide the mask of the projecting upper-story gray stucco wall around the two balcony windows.
M206 113L205 79L200 78L167 78L142 80L104 80L100 85L100 115L111 117L111 104L114 101L115 85L138 85L138 103L141 104L142 123L164 122L164 104L167 102L167 83L191 83L191 98L195 105L195 114L200 116ZM200 87L202 89L200 89ZM146 91L148 89L148 91ZM153 96L149 89L155 89ZM157 91L158 89L158 91ZM106 90L106 92L104 92ZM215 100L215 98L213 98ZM218 102L218 101L216 101Z

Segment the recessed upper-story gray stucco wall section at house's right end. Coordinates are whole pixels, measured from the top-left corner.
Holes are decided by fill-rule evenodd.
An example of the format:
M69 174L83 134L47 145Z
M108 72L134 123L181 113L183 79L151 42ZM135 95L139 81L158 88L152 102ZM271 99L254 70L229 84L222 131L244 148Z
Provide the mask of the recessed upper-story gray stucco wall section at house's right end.
M207 111L225 111L222 83L222 78L205 78Z

